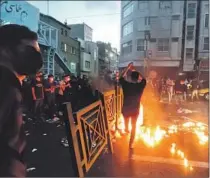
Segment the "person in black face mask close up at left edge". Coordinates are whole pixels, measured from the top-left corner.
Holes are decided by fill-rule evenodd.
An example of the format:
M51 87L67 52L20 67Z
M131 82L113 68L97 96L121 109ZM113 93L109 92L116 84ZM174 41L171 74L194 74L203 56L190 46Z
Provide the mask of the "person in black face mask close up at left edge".
M0 177L25 177L22 81L42 66L37 34L20 25L0 27Z

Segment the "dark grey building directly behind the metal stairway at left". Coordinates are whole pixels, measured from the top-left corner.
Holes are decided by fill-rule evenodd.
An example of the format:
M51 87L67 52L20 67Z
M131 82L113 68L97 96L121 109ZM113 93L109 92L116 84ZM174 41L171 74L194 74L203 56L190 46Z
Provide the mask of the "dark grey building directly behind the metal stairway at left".
M71 73L76 76L79 73L80 42L70 37L71 28L55 18L44 14L40 15L40 21L57 30L57 45L55 46L54 60L51 63L47 63L45 60L43 66L44 72L49 73L47 69L51 70L50 67L54 66L52 68L55 75L61 76L64 73ZM49 33L46 31L44 35L48 37ZM50 35L52 36L52 32ZM52 39L49 38L49 41L52 41Z

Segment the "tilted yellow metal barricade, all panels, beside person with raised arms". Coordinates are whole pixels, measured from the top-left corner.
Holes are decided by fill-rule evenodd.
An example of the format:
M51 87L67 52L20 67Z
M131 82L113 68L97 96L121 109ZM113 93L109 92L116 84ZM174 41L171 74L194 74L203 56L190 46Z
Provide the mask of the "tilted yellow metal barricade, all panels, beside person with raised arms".
M84 177L106 147L113 153L112 139L118 128L122 99L122 89L116 87L115 90L104 92L102 101L74 114L71 104L66 104L64 120L74 177Z

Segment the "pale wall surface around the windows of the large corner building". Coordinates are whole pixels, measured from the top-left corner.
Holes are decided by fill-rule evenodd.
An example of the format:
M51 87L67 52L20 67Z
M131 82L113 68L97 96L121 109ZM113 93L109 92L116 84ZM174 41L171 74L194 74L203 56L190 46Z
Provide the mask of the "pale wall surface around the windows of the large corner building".
M183 6L184 1L131 1L130 4L134 5L133 12L123 18L123 8L125 2L122 3L121 9L121 55L119 67L125 67L128 62L135 61L137 66L142 66L144 60L144 51L137 50L137 39L144 39L145 30L150 31L151 41L148 44L148 50L152 51L151 61L162 61L169 63L170 60L177 60L178 66L181 60L181 38L182 38L182 25L183 25ZM127 6L129 5L127 3ZM174 20L174 16L178 16ZM150 18L150 23L145 22L145 18ZM127 36L122 35L123 26L133 21L133 32ZM158 39L169 39L169 50L160 52L158 48ZM176 38L173 39L172 38ZM132 52L122 54L122 45L128 41L132 41ZM178 67L177 66L177 67Z

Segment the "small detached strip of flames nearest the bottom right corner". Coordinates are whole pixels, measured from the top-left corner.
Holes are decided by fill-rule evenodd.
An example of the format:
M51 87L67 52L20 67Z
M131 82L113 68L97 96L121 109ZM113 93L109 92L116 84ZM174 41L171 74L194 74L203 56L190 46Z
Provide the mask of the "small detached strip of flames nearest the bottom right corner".
M183 160L184 167L186 167L190 171L193 170L193 167L190 166L189 161L186 158L184 152L182 150L178 149L175 143L172 143L170 152L171 152L172 155L178 156L179 158L181 158Z

